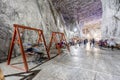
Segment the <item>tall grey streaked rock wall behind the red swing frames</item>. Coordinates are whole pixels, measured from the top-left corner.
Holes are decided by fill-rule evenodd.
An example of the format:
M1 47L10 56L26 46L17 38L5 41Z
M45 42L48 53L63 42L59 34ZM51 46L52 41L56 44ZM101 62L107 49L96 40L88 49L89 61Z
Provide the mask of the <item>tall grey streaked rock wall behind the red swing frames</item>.
M64 30L61 15L50 0L0 0L0 57L7 57L13 24L42 29L47 42L52 31ZM25 31L24 36L31 43L37 38L33 31Z

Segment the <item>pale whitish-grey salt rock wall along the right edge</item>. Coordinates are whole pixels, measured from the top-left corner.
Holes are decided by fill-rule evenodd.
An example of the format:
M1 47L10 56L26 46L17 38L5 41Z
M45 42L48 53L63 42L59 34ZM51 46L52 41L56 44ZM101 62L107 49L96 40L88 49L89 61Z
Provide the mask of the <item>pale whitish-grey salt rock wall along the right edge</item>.
M102 36L120 43L120 0L102 0Z

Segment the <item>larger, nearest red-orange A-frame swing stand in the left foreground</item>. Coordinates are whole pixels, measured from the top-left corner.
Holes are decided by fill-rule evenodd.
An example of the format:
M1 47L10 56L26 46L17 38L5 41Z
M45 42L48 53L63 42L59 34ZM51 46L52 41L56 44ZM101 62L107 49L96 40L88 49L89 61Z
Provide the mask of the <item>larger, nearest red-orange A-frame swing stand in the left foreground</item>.
M22 25L18 25L18 24L14 24L14 33L13 33L13 36L12 36L12 41L11 41L11 45L10 45L10 51L8 53L7 65L10 65L13 48L14 48L14 45L17 43L20 46L20 51L21 51L21 55L22 55L23 62L24 62L24 67L25 67L25 69L22 69L22 70L25 70L27 72L29 68L28 68L28 64L27 64L26 55L25 55L25 52L24 52L22 40L20 38L19 29L27 29L27 30L33 30L33 31L38 32L38 43L41 42L42 39L43 39L44 46L45 46L45 49L46 49L46 52L47 52L47 55L48 55L48 59L50 59L50 55L49 55L49 52L47 50L47 45L46 45L46 41L45 41L45 38L44 38L42 30L36 29L36 28L27 27L27 26L22 26ZM15 66L13 66L13 67L15 67ZM15 67L15 68L18 68L18 67ZM21 68L18 68L18 69L21 69Z

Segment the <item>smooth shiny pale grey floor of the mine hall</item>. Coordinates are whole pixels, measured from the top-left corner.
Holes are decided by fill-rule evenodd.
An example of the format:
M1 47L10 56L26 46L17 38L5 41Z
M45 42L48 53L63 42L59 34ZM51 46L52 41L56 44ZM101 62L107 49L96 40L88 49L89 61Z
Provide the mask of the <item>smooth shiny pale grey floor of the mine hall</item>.
M71 46L47 61L28 62L30 72L0 64L6 80L120 80L120 50ZM21 56L12 59L23 66ZM18 63L18 64L17 64Z

